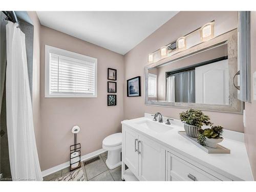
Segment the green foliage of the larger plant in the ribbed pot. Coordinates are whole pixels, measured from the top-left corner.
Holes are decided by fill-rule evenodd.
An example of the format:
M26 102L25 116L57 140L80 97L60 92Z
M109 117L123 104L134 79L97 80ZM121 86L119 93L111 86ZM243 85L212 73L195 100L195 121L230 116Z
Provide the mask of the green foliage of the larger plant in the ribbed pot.
M186 112L180 113L181 121L186 124L197 126L201 129L201 126L212 125L210 118L207 115L204 115L201 110L190 109Z

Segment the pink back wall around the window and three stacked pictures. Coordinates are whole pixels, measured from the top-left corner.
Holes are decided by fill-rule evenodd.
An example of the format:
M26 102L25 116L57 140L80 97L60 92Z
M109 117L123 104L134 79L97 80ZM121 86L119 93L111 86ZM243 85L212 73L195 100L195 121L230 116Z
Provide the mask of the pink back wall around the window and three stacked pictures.
M97 58L98 97L45 98L45 45ZM69 161L74 125L81 128L77 136L81 155L99 150L106 136L121 132L124 61L120 54L44 26L40 31L40 55L40 166L46 170ZM107 106L108 68L117 69L116 106Z

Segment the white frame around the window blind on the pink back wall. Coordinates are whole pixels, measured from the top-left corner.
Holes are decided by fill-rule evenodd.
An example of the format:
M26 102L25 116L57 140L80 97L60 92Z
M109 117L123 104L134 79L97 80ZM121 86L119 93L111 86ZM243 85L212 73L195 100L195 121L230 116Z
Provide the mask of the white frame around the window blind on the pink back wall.
M50 93L50 53L62 55L66 57L71 57L74 59L94 62L95 67L95 84L94 84L94 95L87 95L87 94L81 94L81 93L74 93L74 94L65 94L65 93L57 93L53 94ZM51 47L48 45L45 45L45 98L72 98L72 97L87 97L87 98L96 98L97 97L97 58L89 57L86 55L74 53L71 51L59 49L56 47Z

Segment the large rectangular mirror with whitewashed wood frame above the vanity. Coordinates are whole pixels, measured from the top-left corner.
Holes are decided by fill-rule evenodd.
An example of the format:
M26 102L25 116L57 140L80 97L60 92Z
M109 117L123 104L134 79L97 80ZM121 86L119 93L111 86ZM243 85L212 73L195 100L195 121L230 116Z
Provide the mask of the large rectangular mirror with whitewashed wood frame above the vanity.
M145 104L242 113L238 100L237 30L145 67Z

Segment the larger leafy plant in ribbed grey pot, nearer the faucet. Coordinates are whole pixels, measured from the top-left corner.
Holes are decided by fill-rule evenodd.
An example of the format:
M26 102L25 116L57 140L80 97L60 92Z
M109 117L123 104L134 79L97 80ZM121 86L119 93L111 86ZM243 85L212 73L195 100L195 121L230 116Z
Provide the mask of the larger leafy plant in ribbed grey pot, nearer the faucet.
M198 131L202 125L211 125L210 118L200 110L190 109L182 112L180 119L184 122L184 129L189 137L198 137Z

